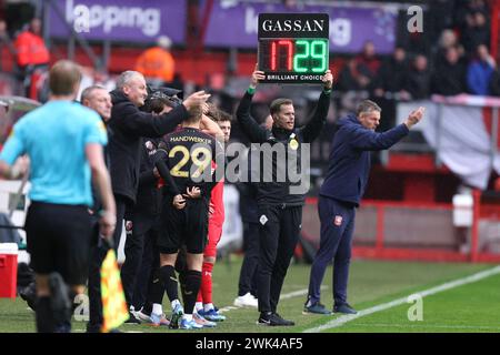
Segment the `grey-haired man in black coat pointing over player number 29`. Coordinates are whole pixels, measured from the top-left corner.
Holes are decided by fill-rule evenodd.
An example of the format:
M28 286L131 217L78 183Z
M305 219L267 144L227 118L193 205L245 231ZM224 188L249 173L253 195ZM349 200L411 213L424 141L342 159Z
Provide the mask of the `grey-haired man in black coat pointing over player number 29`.
M194 92L170 112L153 115L139 110L148 98L144 77L137 71L126 71L118 78L117 89L111 92L113 106L108 122L111 182L117 201L114 248L120 242L126 210L136 204L141 138L160 138L172 132L188 118L188 111L201 110L209 97L204 91Z

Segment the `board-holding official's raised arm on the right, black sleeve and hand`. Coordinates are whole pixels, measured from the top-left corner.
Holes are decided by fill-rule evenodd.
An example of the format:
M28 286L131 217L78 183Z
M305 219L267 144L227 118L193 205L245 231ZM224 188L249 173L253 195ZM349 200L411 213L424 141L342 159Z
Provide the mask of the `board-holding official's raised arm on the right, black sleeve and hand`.
M320 135L321 130L327 123L328 109L330 108L330 93L333 85L333 75L330 70L327 70L323 78L323 91L319 98L318 104L316 106L314 114L308 124L306 124L300 131L302 133L303 140L307 143L312 142Z

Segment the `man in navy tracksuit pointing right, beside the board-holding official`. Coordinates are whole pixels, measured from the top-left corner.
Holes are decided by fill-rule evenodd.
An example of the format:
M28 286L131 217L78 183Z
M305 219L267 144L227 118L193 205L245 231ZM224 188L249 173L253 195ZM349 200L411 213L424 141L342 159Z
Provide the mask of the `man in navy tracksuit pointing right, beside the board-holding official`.
M320 247L314 256L304 313L331 314L320 303L320 286L324 271L333 258L333 312L357 313L347 302L351 241L356 207L368 183L370 151L389 149L422 119L424 108L410 113L404 123L383 133L374 132L380 122L380 106L362 101L356 115L336 122L327 178L318 200L321 221Z

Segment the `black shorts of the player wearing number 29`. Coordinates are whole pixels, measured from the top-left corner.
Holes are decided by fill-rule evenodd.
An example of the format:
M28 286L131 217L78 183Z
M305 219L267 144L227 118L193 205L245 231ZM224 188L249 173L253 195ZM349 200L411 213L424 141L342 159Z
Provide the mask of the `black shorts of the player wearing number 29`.
M160 253L174 254L184 244L188 253L202 254L208 239L208 209L204 199L188 200L182 210L166 203L158 239Z

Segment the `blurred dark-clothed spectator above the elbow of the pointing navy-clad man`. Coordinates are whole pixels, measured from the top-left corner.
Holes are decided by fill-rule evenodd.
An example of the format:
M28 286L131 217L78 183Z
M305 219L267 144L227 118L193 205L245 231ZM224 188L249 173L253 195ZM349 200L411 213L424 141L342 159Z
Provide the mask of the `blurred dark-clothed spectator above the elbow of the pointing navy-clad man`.
M401 93L408 72L407 52L402 47L397 47L392 57L383 62L376 79L376 97L387 93Z

